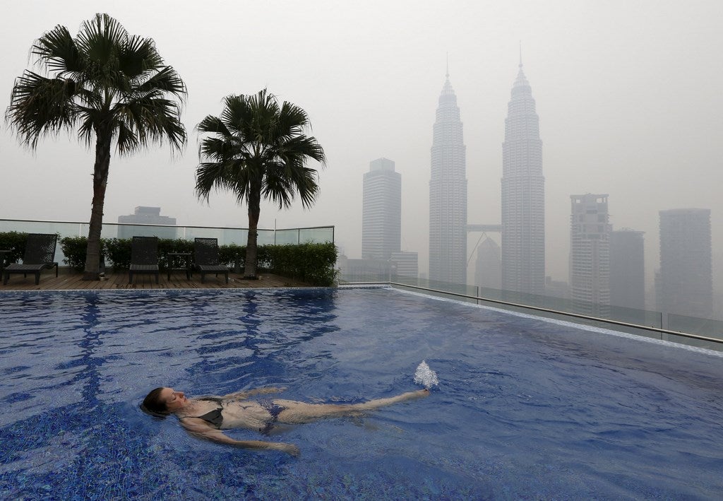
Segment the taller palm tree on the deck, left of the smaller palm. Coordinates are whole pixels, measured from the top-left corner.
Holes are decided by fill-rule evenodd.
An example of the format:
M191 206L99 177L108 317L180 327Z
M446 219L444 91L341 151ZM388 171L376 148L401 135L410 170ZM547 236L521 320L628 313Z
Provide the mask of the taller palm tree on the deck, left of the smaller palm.
M108 14L84 22L76 38L56 26L33 43L30 54L48 76L25 70L15 80L5 117L31 149L40 136L76 127L89 148L95 138L83 279L98 279L111 145L129 155L165 139L180 151L186 143L180 120L186 85L163 64L151 38L129 35Z

